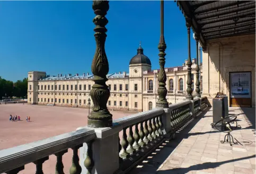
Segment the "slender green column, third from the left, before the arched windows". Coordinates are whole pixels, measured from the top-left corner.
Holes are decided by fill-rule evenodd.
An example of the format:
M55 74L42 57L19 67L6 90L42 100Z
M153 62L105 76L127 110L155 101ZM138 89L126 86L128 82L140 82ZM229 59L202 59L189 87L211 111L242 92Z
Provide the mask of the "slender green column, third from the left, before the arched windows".
M187 21L187 18L186 18ZM191 56L190 56L190 19L189 22L186 22L187 30L188 30L188 80L187 80L187 100L193 100L193 95L192 95L192 80L191 80Z

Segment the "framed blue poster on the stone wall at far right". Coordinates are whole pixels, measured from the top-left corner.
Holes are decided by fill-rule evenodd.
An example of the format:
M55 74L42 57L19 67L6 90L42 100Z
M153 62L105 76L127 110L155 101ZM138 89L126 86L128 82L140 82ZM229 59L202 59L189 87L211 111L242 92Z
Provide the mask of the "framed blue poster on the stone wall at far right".
M251 72L231 72L231 98L251 98Z

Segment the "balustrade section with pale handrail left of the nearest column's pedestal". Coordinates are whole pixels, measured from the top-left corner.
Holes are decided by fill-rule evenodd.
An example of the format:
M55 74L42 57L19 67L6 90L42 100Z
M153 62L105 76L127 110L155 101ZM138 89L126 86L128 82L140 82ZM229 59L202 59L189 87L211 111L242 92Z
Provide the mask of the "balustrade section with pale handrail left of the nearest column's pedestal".
M79 158L77 156L77 150L82 147L84 142L90 142L94 138L95 132L93 130L81 129L1 150L0 173L18 173L24 169L24 165L30 162L35 163L37 165L37 172L41 173L42 163L48 160L51 154L55 154L57 156L56 172L58 171L61 173L61 171L63 171L63 167L61 166L62 161L58 161L58 157L62 157L69 148L72 148L74 152L71 168L78 169L79 171L79 168L81 167L78 166ZM70 171L74 170L71 168Z

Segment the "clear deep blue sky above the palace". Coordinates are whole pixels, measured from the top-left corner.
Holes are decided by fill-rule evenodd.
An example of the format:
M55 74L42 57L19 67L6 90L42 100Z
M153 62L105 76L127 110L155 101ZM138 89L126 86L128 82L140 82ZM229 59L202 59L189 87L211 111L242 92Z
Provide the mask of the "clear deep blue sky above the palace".
M129 70L142 41L144 54L158 69L160 1L110 1L105 50L110 73ZM187 28L173 1L164 4L165 67L188 57ZM95 52L92 1L1 1L0 76L16 81L28 71L91 74ZM196 44L191 32L191 57Z

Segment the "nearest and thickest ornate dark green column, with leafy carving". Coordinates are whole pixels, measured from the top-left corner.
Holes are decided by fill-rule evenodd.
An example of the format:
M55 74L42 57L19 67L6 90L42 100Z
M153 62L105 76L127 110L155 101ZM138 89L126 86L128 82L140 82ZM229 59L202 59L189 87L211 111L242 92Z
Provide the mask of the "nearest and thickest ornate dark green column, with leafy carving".
M107 102L110 96L110 91L105 82L108 81L107 74L109 72L109 63L105 53L105 40L107 37L108 20L105 17L109 10L109 1L93 1L92 8L95 13L93 23L94 36L96 41L96 51L92 61L93 81L95 84L91 89L91 98L93 108L91 114L88 115L88 126L93 128L111 127L112 114L107 108Z

